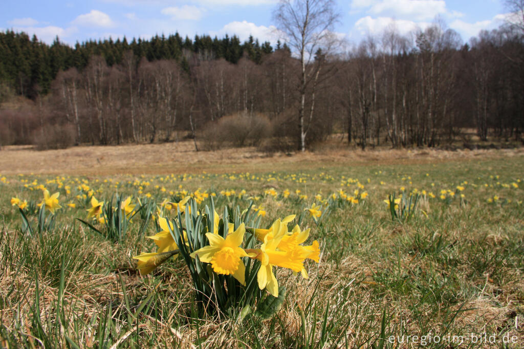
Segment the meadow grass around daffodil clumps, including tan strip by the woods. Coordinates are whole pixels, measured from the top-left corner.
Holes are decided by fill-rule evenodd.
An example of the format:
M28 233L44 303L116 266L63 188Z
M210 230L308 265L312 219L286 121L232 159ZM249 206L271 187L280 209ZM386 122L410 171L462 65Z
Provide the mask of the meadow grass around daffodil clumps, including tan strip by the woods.
M195 152L192 147L188 141L49 151L7 147L0 151L0 169L9 181L2 187L5 190L0 197L6 221L0 236L0 272L4 272L0 277L0 300L4 301L0 304L0 347L31 341L38 346L38 338L45 335L51 343L67 345L61 330L57 330L54 308L60 304L60 258L67 263L63 324L66 333L81 347L104 346L104 343L107 347L170 347L173 343L182 348L199 344L209 348L257 347L255 339L260 339L265 347L298 347L298 341L304 341L306 334L312 337L311 343L321 342L325 311L326 319L334 320L330 335L343 337L340 341L330 342L330 339L323 347L371 348L380 333L385 310L387 334L430 331L452 335L491 334L504 330L519 339L509 348L524 347L521 325L519 330L512 329L515 317L521 321L524 314L521 233L524 221L523 206L518 203L524 189L522 149L326 149L268 157L254 148ZM229 174L211 174L188 176L183 182L183 176L175 176L170 181L157 176L203 171L237 173L234 179ZM241 177L238 172L243 171L256 174L260 179ZM276 174L261 174L272 171ZM151 277L142 278L137 274L131 257L151 248L149 239L137 234L141 222L138 218L134 220L133 233L117 244L93 234L83 225L72 229L74 217L85 217L86 210L75 201L76 209L63 205L58 211L58 228L44 232L41 239L24 243L26 235L20 231L19 212L10 206L9 199L20 195L20 198L40 200L40 192L24 188L22 180L31 182L37 178L39 183L44 183L51 177L12 176L30 172L51 176L89 175L86 182L93 189L103 189L100 198L115 192L115 182L110 185L103 183L103 179L125 173L149 173L144 180L151 181L151 186L145 191L153 192L156 202L167 195L153 189L156 184L174 191L179 190L180 184L184 189L201 187L217 193L222 189L235 189L237 193L246 189L247 195L260 196L256 205L267 211L265 225L284 212L300 213L314 200L314 194L326 197L341 188L344 178L361 179L369 197L362 205L334 209L320 225L313 224L309 217L304 219L304 226L310 226L312 236L322 242L320 263L308 265L309 280L297 280L289 271L279 270L280 285L286 286L288 296L278 320L195 319L191 310L191 280L181 261L163 265ZM297 180L286 177L292 172L297 173ZM333 176L333 180L324 183L321 172ZM96 177L97 174L101 177ZM265 181L269 176L278 180ZM308 184L298 182L299 177L308 180ZM128 180L121 181L119 192L133 193L135 189L125 183ZM392 221L383 203L388 193L398 192L401 186L438 193L441 189L453 189L465 180L468 181L464 191L466 205L459 205L457 200L444 203L438 198L426 198L420 209L428 215L418 214L410 222ZM517 188L503 187L517 180ZM68 196L61 189L60 203L74 200L74 188L78 184L72 178L64 182L73 192ZM348 192L355 189L355 184L352 185L347 187ZM59 190L55 184L48 186L52 191ZM276 188L278 192L301 189L310 199L298 202L273 198L263 194L268 188ZM487 204L486 200L494 194L511 202L504 203L501 199L497 204ZM230 203L230 199L219 196L215 199L220 200L220 207ZM243 199L239 204L244 208L247 201ZM147 235L154 232L156 228L151 224ZM36 276L40 292L38 313L35 311ZM152 308L141 313L133 326L128 323L121 279L133 311L148 293L156 290ZM301 311L310 301L313 305L305 312L303 324ZM108 326L111 336L107 341L100 341L97 336L104 328L102 324L110 308L114 329ZM35 325L35 317L44 326L41 332ZM448 325L451 328L447 328ZM26 340L26 336L29 339ZM411 346L399 343L397 347Z

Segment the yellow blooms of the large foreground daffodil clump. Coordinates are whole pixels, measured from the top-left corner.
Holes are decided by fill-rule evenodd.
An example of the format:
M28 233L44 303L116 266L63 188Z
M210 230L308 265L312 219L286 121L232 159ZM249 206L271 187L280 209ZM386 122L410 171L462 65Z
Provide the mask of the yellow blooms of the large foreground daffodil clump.
M188 204L182 212L189 211L189 208L190 205ZM253 211L260 212L260 208ZM202 233L200 248L195 248L192 252L189 251L189 256L195 259L196 265L209 264L210 270L208 272L212 270L216 275L231 276L244 287L246 286L246 278L252 272L256 272L258 288L260 290L266 289L272 296L278 297L278 280L276 277L278 268L287 268L294 273L300 273L304 278L308 278L304 266L305 260L309 258L317 263L319 262L319 243L313 241L311 245L303 245L309 237L310 230L302 231L298 225L295 225L289 231L288 224L294 220L296 216L294 214L283 219L277 219L268 228L246 227L245 223L238 224L237 221L238 225L235 229L234 223L225 222L225 231L220 234L219 226L222 226L222 220L219 214L214 211L214 208L211 212L208 212L213 212L213 222L209 221L209 231ZM256 215L256 217L259 217L259 215ZM133 257L138 260L138 269L142 275L149 274L171 256L177 257L180 247L177 245L174 231L183 232L184 242L188 242L188 235L193 236L193 242L186 243L182 248L183 250L192 245L198 246L196 241L199 238L195 238L196 235L193 233L187 233L187 228L176 223L176 220L170 222L165 217L159 216L158 223L161 231L154 236L149 236L157 245L157 252L141 253ZM250 241L249 244L246 243L248 240ZM191 241L191 237L189 241ZM254 241L258 243L254 243ZM250 260L254 261L255 264L253 262L248 263ZM253 266L256 266L256 268ZM246 267L249 268L247 272Z

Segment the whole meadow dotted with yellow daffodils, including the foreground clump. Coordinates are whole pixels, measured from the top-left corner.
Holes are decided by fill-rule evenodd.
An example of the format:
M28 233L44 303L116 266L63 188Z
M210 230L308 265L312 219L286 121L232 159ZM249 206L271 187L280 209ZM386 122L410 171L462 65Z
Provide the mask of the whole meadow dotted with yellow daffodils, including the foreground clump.
M292 167L0 174L0 346L524 346L522 155Z

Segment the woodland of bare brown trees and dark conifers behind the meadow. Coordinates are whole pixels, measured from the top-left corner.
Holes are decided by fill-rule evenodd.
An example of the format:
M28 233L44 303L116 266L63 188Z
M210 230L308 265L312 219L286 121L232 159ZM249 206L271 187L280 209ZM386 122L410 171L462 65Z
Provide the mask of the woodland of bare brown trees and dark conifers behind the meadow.
M332 42L333 43L333 42ZM296 52L250 37L52 45L0 32L0 146L193 139L196 150L522 143L524 30L463 42L435 21ZM301 69L302 68L302 69Z

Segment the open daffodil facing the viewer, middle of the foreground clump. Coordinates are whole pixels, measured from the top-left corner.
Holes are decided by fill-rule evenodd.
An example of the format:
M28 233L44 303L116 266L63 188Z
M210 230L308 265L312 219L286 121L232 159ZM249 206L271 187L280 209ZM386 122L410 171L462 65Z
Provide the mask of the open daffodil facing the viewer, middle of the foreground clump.
M233 275L238 282L245 285L245 266L242 257L247 253L241 247L246 232L244 223L236 231L223 238L219 234L206 233L209 246L204 246L191 254L191 257L199 256L204 263L210 263L217 274Z

